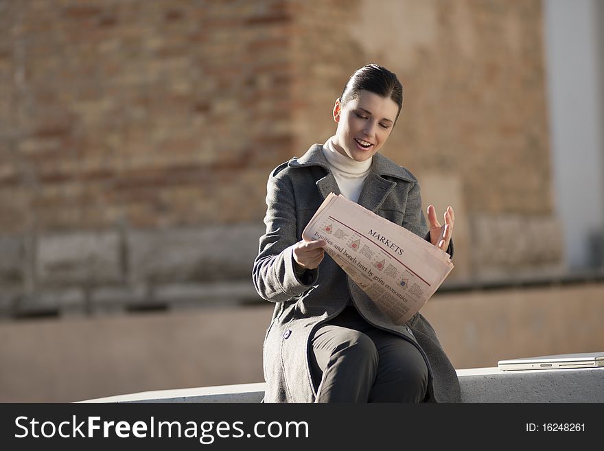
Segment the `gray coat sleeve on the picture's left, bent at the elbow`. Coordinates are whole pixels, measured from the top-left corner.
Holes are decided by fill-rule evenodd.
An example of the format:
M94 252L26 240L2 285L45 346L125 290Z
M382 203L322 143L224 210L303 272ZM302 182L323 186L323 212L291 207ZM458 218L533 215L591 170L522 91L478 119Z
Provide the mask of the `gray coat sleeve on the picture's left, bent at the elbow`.
M312 288L318 269L297 272L292 254L297 237L296 205L289 181L270 176L266 186L266 233L252 270L256 291L272 302L289 301Z

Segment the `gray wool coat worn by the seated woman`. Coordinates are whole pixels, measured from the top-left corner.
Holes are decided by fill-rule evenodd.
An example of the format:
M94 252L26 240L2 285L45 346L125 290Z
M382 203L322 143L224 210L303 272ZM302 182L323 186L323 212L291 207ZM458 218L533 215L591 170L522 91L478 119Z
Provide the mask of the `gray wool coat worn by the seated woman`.
M266 233L259 242L253 281L258 294L275 303L264 338L264 402L314 402L310 340L318 327L349 303L369 323L417 346L428 365L428 402L459 402L458 378L436 332L421 315L406 325L393 325L344 271L325 254L315 270L298 276L292 249L319 205L330 193L340 194L329 171L323 146L279 165L268 178ZM426 237L419 184L413 174L375 154L358 203L378 215Z

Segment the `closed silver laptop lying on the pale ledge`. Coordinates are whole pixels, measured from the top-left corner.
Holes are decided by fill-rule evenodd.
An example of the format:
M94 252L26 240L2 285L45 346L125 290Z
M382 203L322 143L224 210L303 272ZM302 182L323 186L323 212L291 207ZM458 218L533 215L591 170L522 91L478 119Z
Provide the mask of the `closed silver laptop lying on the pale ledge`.
M502 371L604 367L604 352L512 358L508 360L499 360L497 366Z

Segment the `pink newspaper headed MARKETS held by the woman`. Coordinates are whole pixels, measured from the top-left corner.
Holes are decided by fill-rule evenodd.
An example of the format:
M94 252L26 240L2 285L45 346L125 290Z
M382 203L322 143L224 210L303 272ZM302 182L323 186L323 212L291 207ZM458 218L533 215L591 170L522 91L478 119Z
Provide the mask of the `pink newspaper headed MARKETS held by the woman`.
M453 269L445 251L337 194L302 233L325 251L396 325L406 323Z

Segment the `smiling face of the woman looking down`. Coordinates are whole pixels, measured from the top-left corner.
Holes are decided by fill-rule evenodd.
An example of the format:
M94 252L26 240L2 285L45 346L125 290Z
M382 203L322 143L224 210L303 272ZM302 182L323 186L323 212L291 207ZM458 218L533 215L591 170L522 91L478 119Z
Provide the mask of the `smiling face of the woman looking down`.
M359 91L356 99L334 106L338 123L334 147L355 161L365 161L380 150L390 136L399 106L390 97Z

